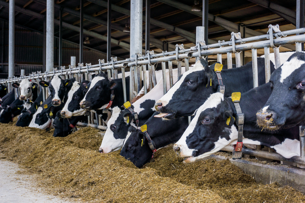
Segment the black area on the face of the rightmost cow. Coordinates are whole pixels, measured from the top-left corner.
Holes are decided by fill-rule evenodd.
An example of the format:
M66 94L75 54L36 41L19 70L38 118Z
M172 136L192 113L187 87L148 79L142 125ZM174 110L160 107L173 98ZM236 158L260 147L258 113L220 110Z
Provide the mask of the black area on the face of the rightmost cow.
M303 52L292 54L288 61L294 57L305 61ZM283 82L280 82L281 74L282 66L272 73L272 93L264 105L269 106L265 114L272 114L268 120L270 122L267 122L268 126L277 126L276 129L291 128L305 120L305 64L292 72Z

